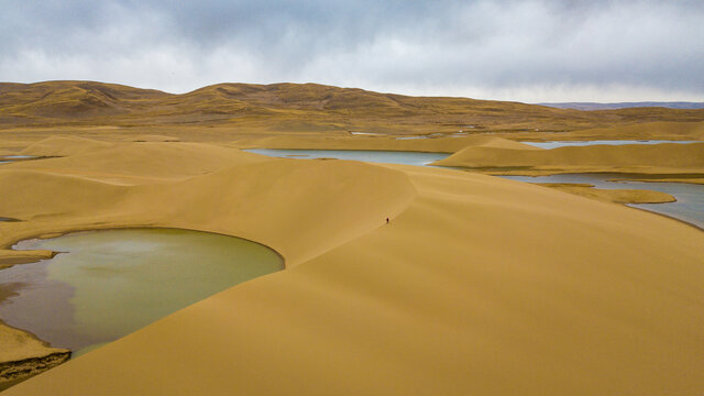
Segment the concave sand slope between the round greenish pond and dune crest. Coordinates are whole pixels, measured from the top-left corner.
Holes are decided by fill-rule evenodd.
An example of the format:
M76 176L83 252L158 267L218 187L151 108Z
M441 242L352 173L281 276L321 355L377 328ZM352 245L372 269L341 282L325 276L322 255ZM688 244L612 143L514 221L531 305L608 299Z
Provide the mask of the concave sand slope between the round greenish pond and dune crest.
M413 200L396 170L356 162L278 160L191 143L122 144L11 164L0 186L0 245L57 231L144 224L234 234L287 265L378 227ZM201 208L201 209L198 209ZM16 258L0 251L0 262Z

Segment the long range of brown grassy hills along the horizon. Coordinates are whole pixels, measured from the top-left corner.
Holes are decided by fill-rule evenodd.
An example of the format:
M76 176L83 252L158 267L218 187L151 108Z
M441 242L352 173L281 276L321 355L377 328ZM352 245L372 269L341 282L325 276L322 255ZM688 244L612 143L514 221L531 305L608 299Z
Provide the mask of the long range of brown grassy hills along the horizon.
M91 81L0 84L0 130L110 125L155 134L175 127L224 128L238 133L475 134L572 131L652 121L704 121L704 109L585 112L317 84L218 84L183 95Z

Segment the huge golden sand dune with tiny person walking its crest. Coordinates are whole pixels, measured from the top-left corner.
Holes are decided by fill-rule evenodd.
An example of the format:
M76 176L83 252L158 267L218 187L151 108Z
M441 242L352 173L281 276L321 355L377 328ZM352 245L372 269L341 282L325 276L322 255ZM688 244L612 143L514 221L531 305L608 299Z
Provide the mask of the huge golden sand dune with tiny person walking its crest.
M187 161L210 155L226 165ZM125 165L133 161L144 170ZM287 270L8 395L704 387L704 234L671 219L451 169L275 160L207 144L124 143L8 165L0 187L10 185L18 198L0 201L0 212L29 221L0 223L4 246L73 229L178 227L265 243Z

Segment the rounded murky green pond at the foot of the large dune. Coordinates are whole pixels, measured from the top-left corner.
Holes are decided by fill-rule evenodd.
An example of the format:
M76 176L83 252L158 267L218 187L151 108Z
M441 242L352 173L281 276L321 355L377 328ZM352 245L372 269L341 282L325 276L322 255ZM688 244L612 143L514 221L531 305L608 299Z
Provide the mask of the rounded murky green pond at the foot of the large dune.
M284 267L264 245L173 229L77 232L13 248L65 253L0 271L0 318L74 356Z

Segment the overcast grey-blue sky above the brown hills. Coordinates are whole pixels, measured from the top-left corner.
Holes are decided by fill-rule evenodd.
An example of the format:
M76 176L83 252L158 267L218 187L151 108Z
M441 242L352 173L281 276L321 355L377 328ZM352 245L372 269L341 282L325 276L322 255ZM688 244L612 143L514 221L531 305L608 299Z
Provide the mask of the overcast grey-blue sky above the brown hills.
M704 1L0 0L0 80L704 100Z

